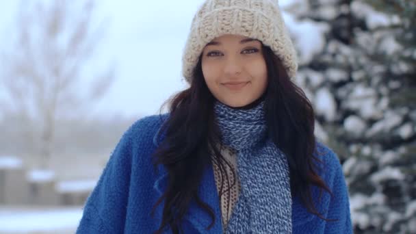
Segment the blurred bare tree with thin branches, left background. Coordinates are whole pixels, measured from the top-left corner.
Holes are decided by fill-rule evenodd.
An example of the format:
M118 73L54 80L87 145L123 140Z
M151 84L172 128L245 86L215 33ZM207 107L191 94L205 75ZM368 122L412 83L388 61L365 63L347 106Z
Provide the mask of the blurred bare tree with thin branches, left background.
M22 0L14 45L2 57L0 79L9 98L2 110L38 129L41 168L49 164L57 116L86 114L114 80L114 66L86 75L104 31L94 6L94 0Z

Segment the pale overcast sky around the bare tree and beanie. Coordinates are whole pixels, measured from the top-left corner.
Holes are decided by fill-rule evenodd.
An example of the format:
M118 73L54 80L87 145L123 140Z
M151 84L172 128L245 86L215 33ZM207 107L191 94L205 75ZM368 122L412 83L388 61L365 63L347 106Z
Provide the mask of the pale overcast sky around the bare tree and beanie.
M281 4L287 1L292 0L281 0ZM95 112L156 114L166 99L186 87L181 76L181 53L192 17L203 0L97 2L97 16L107 19L109 24L96 63L114 61L117 70L114 85ZM17 3L2 2L1 44L10 40Z

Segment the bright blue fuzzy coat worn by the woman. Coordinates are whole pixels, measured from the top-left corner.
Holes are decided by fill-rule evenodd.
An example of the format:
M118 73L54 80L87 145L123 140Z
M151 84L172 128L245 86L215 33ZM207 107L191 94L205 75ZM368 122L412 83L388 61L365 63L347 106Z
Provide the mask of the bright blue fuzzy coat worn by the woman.
M153 233L158 229L163 203L155 210L154 218L151 211L167 180L164 168L158 174L153 170L151 155L160 141L156 136L162 122L161 116L142 118L122 136L86 202L77 233ZM317 210L325 218L337 221L325 221L309 213L300 199L294 197L293 233L352 233L348 190L339 160L322 144L317 144L317 151L324 163L320 176L333 192L333 196L323 193ZM182 223L183 231L222 233L220 201L212 168L204 172L198 193L213 208L216 222L206 230L211 218L192 203ZM313 187L315 201L318 197L319 190Z

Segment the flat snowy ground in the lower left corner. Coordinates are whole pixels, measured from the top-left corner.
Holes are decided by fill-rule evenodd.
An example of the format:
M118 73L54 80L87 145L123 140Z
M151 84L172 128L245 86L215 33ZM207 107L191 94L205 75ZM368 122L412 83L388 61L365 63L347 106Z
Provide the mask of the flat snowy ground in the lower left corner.
M0 207L0 234L75 233L82 207Z

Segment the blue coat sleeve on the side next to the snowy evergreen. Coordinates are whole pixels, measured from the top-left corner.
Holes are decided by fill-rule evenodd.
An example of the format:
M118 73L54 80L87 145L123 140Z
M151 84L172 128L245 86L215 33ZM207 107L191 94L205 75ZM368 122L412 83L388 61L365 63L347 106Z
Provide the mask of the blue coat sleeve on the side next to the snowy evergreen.
M330 187L333 196L330 198L327 218L330 220L325 225L324 233L352 233L352 223L350 215L350 201L348 198L348 187L343 176L341 164L337 155L330 151L333 158L334 179Z

